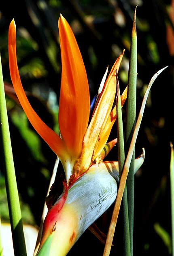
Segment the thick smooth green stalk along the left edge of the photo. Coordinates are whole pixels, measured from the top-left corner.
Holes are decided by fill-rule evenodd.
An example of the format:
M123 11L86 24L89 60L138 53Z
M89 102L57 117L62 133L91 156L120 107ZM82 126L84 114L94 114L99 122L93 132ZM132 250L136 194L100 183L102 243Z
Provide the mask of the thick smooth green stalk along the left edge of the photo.
M3 161L4 176L6 183L6 194L8 199L8 209L13 237L13 247L15 256L26 256L25 239L23 235L23 225L21 209L17 191L15 177L15 167L11 148L10 132L8 127L8 117L6 111L6 101L4 93L4 83L2 77L2 66L0 59L0 145L1 160Z

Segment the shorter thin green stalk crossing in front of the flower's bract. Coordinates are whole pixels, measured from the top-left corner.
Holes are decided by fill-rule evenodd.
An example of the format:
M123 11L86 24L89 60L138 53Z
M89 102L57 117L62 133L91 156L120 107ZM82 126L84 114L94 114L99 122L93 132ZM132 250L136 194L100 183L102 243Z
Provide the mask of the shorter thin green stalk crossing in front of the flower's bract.
M121 96L119 89L119 81L117 78L117 137L118 137L118 158L119 158L119 179L123 171L125 162L125 150L124 150L124 136L123 136L123 118L121 112ZM128 217L128 206L127 206L127 188L123 193L123 237L124 237L124 255L130 256L130 237L129 237L129 217Z

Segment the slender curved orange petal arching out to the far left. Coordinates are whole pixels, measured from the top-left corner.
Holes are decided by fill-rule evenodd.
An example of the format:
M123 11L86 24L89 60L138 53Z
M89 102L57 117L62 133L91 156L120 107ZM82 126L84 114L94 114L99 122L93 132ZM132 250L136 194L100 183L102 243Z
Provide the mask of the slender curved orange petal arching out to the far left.
M15 21L12 20L9 26L8 31L8 54L9 54L9 66L10 66L10 75L13 83L13 87L27 115L30 123L34 127L34 129L38 132L38 134L42 137L42 139L47 142L47 144L51 147L51 149L59 156L60 158L64 157L65 153L65 145L64 142L60 139L60 137L51 130L36 114L36 112L32 109L25 92L23 90L21 79L19 75L19 70L17 66L17 57L16 57L16 25Z

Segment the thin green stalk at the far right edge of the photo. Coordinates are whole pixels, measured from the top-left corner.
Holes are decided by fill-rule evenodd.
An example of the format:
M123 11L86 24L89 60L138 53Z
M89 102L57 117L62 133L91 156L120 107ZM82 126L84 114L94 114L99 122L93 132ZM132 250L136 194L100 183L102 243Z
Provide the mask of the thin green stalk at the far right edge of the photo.
M172 256L174 256L174 149L171 146L171 159L170 159L170 193L171 193L171 221L172 221Z

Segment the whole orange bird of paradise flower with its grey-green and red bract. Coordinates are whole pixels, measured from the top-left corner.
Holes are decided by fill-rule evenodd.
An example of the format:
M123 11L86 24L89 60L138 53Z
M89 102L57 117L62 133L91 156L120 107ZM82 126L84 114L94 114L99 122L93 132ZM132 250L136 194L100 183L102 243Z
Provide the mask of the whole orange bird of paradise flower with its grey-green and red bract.
M43 225L38 254L51 237L49 254L64 256L81 234L117 196L117 182L110 175L117 170L116 162L103 162L105 145L117 117L113 103L116 93L116 72L123 53L107 70L102 79L98 100L89 123L89 85L83 59L74 34L62 15L59 18L59 39L62 57L62 80L59 99L59 128L61 138L51 130L32 109L23 90L16 56L16 26L11 21L8 51L11 80L28 119L64 167L64 192L51 206ZM105 81L106 80L106 81ZM127 88L121 96L123 106ZM89 125L88 125L89 123ZM110 149L117 139L108 145Z

